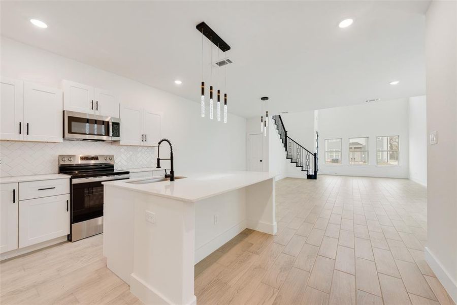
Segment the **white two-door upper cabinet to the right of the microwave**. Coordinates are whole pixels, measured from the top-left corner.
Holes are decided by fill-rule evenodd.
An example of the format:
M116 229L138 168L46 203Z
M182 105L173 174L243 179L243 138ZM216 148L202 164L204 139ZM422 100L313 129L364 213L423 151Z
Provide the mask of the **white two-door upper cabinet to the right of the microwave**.
M120 145L157 146L160 140L160 115L149 110L121 105Z

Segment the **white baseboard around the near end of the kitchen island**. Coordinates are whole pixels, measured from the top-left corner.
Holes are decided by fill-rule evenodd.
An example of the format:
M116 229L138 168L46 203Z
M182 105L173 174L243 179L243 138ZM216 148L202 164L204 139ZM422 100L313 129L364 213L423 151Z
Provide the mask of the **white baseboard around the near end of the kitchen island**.
M137 296L145 304L169 304L174 305L167 297L157 292L154 287L145 283L135 273L130 276L130 291ZM197 297L193 298L184 303L183 305L197 305Z

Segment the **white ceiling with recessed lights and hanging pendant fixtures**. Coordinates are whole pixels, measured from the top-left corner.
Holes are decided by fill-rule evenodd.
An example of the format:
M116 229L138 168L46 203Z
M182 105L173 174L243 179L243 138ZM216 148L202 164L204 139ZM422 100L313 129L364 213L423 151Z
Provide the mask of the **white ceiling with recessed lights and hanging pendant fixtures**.
M262 96L270 97L274 113L425 94L428 5L3 1L1 33L200 102L202 39L195 25L205 21L232 47L227 56L234 64L226 70L229 111L251 117L259 114ZM48 28L35 27L30 18ZM338 23L345 18L354 23L341 29ZM209 45L205 40L206 55ZM215 86L216 75L213 70ZM389 85L393 80L400 84Z

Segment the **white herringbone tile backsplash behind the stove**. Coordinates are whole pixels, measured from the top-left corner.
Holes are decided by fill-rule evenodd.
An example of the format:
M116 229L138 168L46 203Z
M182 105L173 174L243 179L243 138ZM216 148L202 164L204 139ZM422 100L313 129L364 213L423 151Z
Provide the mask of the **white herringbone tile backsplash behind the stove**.
M152 167L154 147L107 142L61 143L0 141L0 177L58 172L58 155L114 155L115 168Z

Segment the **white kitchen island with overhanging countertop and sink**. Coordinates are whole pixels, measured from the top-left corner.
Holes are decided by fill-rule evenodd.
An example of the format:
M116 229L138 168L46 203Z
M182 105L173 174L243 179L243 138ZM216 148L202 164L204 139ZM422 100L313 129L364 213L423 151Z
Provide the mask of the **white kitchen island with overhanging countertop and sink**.
M245 228L276 233L275 175L103 182L107 266L145 304L196 304L194 264Z

